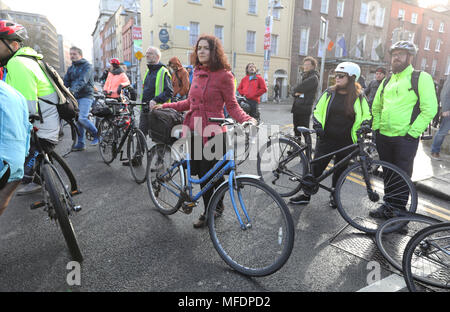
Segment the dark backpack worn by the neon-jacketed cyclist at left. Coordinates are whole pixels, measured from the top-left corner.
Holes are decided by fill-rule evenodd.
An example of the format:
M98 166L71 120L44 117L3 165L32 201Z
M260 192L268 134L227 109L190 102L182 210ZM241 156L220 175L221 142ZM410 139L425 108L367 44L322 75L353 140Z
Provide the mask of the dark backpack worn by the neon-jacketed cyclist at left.
M78 113L80 111L78 109L78 101L73 96L72 92L70 92L70 90L64 85L64 81L61 79L61 76L59 76L58 72L47 62L37 59L34 56L31 55L18 55L18 56L31 58L39 64L39 66L44 71L47 78L50 80L50 83L52 84L59 98L58 103L53 103L42 98L39 98L39 100L50 105L56 105L59 117L67 121L68 123L71 123L74 120L78 120Z

